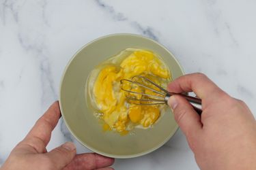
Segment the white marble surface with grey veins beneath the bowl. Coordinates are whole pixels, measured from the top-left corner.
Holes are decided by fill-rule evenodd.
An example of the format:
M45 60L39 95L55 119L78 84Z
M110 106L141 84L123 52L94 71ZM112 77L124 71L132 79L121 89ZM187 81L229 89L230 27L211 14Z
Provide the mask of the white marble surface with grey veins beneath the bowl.
M201 71L256 116L256 1L0 0L0 165L48 105L72 54L111 33L167 46L186 73ZM74 140L61 120L48 149ZM79 152L89 152L74 140ZM184 135L115 169L199 169Z

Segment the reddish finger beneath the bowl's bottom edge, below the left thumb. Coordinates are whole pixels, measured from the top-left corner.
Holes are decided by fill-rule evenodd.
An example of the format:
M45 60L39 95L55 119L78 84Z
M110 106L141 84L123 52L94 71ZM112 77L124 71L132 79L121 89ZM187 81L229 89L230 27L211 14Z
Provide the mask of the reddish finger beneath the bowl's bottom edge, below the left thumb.
M65 170L71 169L99 169L113 165L115 159L100 154L78 154Z

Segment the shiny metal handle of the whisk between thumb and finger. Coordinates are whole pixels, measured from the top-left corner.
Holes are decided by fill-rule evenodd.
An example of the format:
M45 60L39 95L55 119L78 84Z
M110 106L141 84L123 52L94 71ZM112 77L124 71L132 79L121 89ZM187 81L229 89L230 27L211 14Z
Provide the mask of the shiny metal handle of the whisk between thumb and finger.
M193 106L193 108L195 109L197 114L201 115L201 113L202 113L202 105L201 105L202 101L201 101L201 99L199 99L197 97L191 97L191 96L188 96L188 95L169 92L168 95L165 97L166 98L165 101L168 101L168 99L169 99L169 97L171 97L171 95L180 95L180 96L184 97Z

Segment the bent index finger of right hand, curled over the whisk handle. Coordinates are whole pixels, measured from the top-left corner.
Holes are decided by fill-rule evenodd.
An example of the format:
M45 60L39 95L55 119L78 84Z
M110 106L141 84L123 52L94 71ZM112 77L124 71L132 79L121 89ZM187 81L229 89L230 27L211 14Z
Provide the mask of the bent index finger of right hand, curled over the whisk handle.
M225 93L203 73L183 75L171 82L168 90L176 93L193 91L200 99L206 99L206 102L217 99L218 95Z

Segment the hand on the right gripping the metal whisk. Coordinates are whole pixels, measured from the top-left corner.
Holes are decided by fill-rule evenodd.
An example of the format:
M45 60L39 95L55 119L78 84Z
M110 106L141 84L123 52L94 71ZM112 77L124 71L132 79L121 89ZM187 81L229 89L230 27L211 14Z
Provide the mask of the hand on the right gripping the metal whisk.
M256 169L256 122L243 101L201 73L177 78L168 90L193 91L202 99L201 117L179 95L168 101L201 169Z

